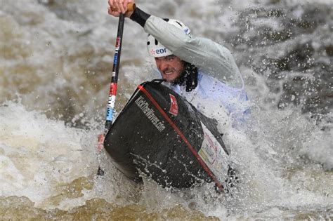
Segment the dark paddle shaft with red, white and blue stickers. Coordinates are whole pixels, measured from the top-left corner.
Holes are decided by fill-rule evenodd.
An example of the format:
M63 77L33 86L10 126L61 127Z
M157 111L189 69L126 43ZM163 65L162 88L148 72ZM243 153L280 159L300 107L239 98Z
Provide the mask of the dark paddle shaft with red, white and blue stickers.
M127 12L134 11L136 5L133 3L129 3L127 5ZM119 22L118 22L118 31L117 31L117 39L115 45L115 57L113 59L113 67L112 67L112 77L110 82L110 92L109 98L107 100L107 110L106 110L106 120L105 120L105 128L104 133L98 135L98 151L100 152L104 147L104 139L107 132L110 130L113 122L113 112L115 112L115 100L117 95L117 83L118 83L118 74L119 74L119 63L120 63L120 55L122 53L122 34L124 31L124 21L125 14L120 13ZM104 171L102 168L98 167L98 175L104 175Z

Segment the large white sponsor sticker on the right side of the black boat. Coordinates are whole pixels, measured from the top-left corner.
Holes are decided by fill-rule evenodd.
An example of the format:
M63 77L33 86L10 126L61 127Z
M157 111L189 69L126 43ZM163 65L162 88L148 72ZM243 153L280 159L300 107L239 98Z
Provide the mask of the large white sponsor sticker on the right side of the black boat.
M216 175L228 173L228 156L211 131L201 122L204 140L198 154L209 169Z

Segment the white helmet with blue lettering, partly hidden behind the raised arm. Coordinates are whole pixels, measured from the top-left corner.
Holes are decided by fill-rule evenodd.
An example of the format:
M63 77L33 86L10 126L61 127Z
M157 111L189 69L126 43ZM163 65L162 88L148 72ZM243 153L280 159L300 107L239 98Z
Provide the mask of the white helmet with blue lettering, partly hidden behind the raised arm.
M188 36L190 36L190 38L192 38L190 28L184 25L183 22L169 18L166 18L164 20L166 20L166 22L168 22L169 24L178 27L178 29L182 29L185 32L185 34L187 34ZM173 54L168 48L164 47L162 43L159 43L159 41L157 41L157 39L155 39L151 34L148 34L147 48L148 48L148 53L155 58L164 57Z

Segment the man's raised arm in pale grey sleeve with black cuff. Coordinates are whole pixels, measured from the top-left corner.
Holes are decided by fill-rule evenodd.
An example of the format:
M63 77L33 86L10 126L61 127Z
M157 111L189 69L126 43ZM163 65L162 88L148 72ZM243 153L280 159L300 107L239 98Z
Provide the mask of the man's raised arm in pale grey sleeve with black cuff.
M192 63L207 74L221 74L218 79L222 79L229 86L242 87L240 71L226 47L210 39L190 38L181 29L170 25L162 18L141 11L140 8L136 8L130 18L181 60Z

